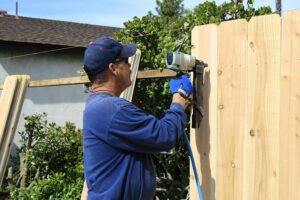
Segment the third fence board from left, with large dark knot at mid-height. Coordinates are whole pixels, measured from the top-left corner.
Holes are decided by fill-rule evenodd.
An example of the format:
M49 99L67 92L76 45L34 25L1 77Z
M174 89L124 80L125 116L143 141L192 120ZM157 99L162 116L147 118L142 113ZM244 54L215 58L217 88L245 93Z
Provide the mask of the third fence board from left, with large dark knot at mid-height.
M280 22L276 14L248 24L243 199L279 196Z

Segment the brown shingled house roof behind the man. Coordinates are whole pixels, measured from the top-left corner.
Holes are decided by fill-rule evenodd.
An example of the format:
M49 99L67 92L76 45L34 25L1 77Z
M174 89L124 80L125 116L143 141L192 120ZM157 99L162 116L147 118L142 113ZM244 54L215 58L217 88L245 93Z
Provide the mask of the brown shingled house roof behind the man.
M97 37L113 37L116 27L0 16L0 41L86 47Z

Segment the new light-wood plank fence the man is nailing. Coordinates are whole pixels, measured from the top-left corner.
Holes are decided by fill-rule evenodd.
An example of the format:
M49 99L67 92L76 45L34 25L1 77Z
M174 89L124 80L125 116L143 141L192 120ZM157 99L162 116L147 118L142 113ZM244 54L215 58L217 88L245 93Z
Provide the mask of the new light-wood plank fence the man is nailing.
M299 200L300 10L198 26L192 45L210 69L191 131L204 199Z

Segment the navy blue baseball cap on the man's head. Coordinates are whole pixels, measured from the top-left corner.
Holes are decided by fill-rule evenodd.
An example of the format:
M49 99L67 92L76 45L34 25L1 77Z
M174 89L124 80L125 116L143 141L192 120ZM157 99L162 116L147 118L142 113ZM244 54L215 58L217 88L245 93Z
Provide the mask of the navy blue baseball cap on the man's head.
M95 75L105 70L109 63L117 58L128 58L136 52L136 45L121 44L108 37L101 37L92 42L85 50L83 63L89 75Z

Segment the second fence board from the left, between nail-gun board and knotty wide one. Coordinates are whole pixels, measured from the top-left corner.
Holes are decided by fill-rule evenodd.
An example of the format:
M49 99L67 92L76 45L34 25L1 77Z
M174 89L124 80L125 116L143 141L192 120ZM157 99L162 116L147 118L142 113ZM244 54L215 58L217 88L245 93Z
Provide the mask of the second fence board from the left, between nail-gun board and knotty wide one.
M217 199L243 197L247 28L246 20L223 22L219 26Z

